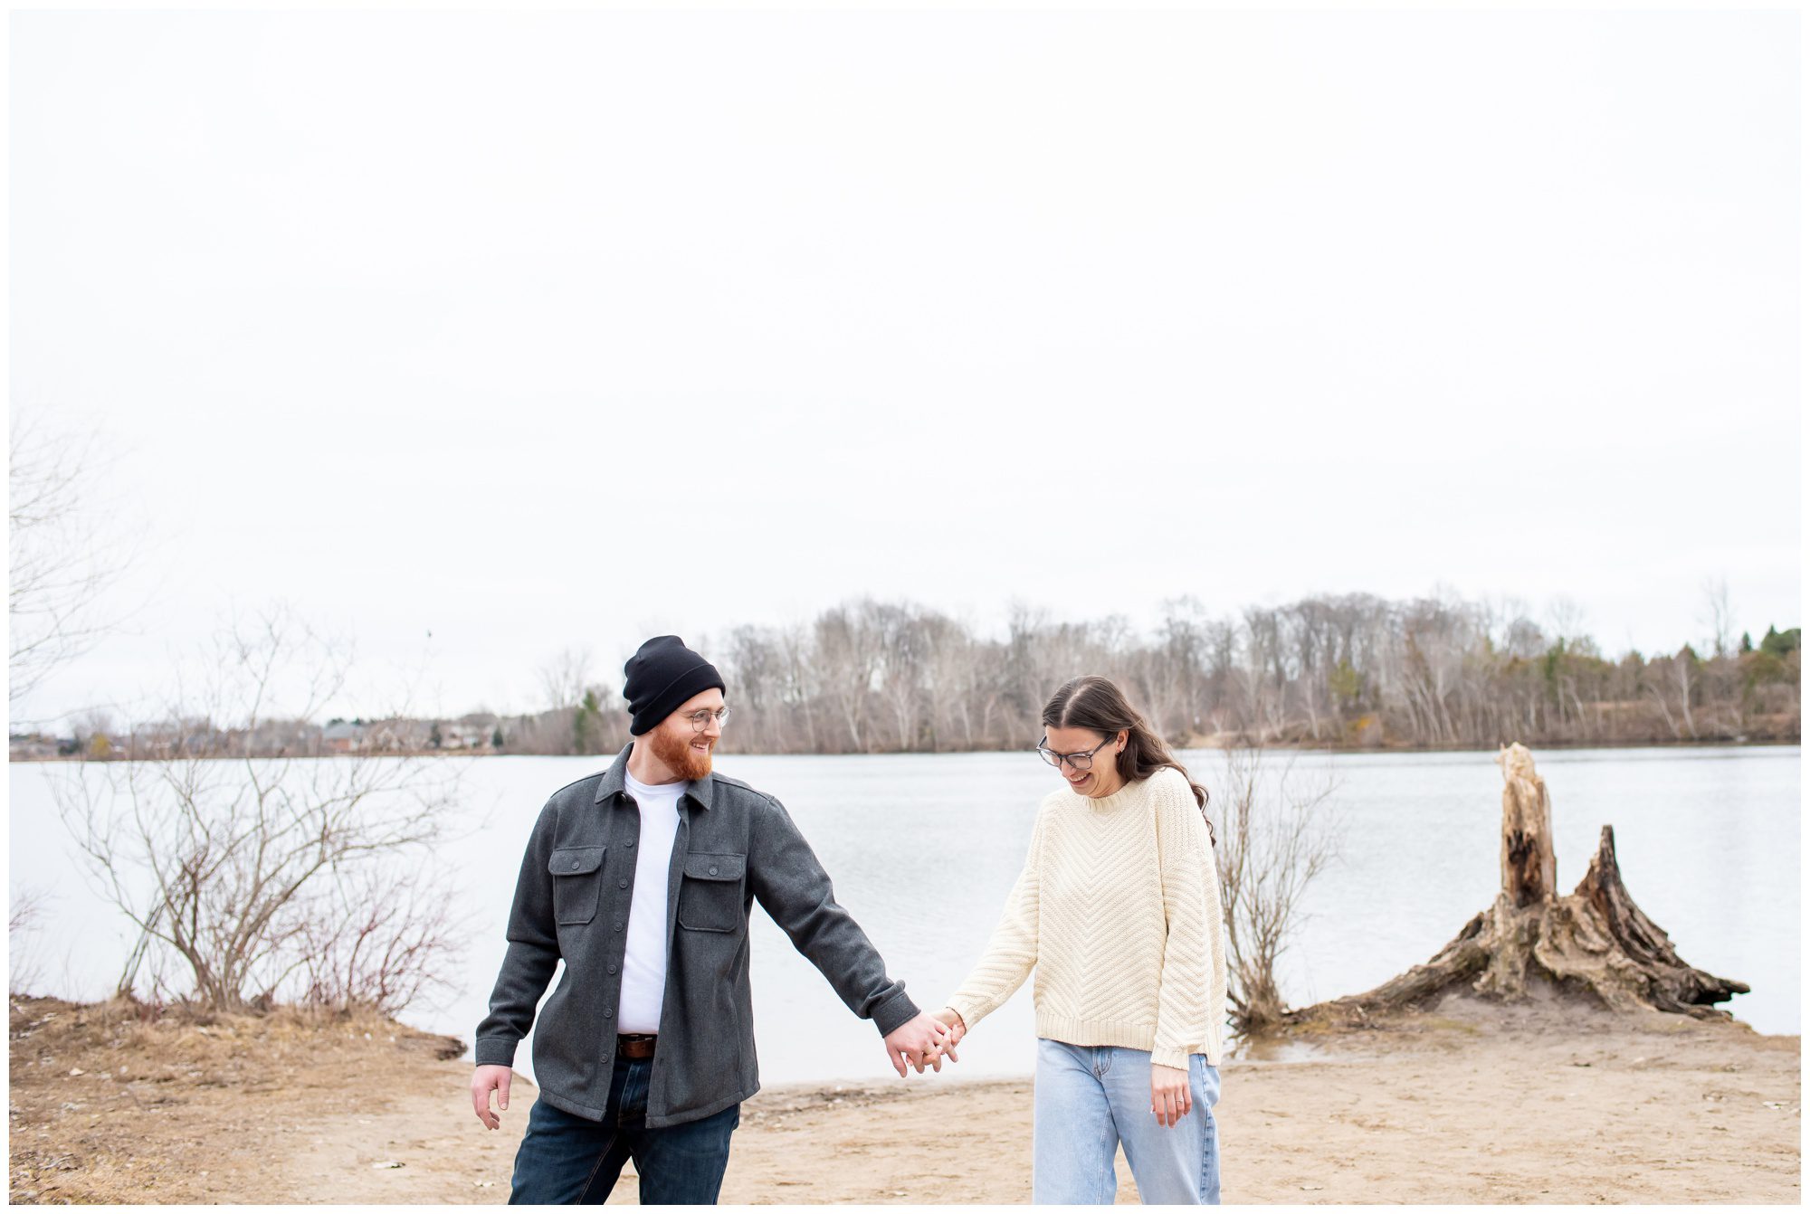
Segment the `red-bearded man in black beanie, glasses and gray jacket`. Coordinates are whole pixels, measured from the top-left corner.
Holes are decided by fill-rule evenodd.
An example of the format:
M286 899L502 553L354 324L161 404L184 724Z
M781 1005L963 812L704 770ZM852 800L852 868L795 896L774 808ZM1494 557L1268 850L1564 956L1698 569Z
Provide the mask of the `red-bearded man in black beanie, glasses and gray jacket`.
M948 1029L905 997L786 809L711 773L729 715L717 668L679 637L628 660L634 742L608 771L547 801L516 879L509 952L478 1026L471 1096L498 1127L510 1062L534 1033L541 1096L510 1201L603 1201L635 1160L641 1201L713 1203L740 1102L760 1087L748 914L760 899L905 1075L956 1058Z

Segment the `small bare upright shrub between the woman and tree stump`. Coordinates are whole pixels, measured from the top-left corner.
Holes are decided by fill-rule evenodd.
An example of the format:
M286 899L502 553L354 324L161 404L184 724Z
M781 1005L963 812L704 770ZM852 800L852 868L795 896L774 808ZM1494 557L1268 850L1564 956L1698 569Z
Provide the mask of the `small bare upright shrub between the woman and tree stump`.
M1227 999L1242 1033L1281 1020L1276 961L1301 928L1307 888L1338 856L1332 773L1307 782L1294 762L1272 771L1262 747L1225 751L1215 858L1225 901Z

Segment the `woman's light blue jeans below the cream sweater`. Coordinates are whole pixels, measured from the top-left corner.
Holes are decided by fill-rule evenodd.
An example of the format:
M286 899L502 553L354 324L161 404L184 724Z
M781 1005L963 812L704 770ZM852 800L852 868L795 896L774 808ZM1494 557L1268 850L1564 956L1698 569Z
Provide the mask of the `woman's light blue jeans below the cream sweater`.
M1144 1205L1218 1205L1218 1067L1191 1055L1187 1084L1193 1111L1160 1125L1149 1111L1148 1049L1037 1039L1032 1201L1111 1205L1119 1190L1113 1156L1124 1143Z

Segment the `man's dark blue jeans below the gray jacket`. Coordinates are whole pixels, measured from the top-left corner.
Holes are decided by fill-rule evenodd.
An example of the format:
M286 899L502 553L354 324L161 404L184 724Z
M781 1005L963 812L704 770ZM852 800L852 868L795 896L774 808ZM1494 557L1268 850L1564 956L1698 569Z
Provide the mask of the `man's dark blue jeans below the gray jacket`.
M529 1133L516 1151L510 1205L601 1205L623 1163L635 1162L641 1205L715 1205L729 1165L729 1134L742 1124L731 1104L697 1122L648 1129L648 1078L653 1058L617 1055L605 1118L592 1122L545 1100L529 1111Z

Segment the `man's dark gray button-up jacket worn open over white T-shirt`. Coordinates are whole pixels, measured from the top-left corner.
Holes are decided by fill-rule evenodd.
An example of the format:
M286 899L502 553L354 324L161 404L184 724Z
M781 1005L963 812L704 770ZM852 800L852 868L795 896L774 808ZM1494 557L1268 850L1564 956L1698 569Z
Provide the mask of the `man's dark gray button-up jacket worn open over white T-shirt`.
M541 809L509 908L509 952L478 1026L478 1066L510 1066L554 968L559 986L534 1033L541 1100L603 1120L615 1066L628 905L641 812L623 787L628 749L608 771ZM867 934L836 905L829 874L786 809L740 780L710 774L679 798L666 894L666 997L648 1089L648 1127L679 1125L753 1096L755 1019L748 986L753 899L881 1033L918 1015Z

